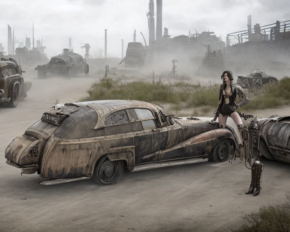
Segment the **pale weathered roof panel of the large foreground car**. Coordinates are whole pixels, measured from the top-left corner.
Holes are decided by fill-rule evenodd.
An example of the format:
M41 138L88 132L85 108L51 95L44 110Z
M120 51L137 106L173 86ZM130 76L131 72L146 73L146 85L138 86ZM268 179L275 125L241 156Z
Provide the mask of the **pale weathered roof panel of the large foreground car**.
M94 129L103 127L107 115L118 110L128 108L148 108L153 112L157 112L158 109L162 109L162 106L138 100L97 100L90 102L76 102L74 104L78 106L87 106L95 110L98 115L98 121Z

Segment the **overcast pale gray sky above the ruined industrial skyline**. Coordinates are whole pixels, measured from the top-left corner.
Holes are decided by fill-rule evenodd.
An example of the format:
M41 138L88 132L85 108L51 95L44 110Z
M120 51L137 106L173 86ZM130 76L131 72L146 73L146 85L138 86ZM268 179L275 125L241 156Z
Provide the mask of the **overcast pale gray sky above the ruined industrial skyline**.
M51 56L69 47L72 38L74 52L84 56L85 43L90 44L90 54L104 50L104 30L108 31L108 57L121 57L121 39L124 50L128 42L136 40L144 44L140 31L148 43L146 11L149 0L9 0L0 3L0 43L7 52L7 24L14 28L17 40L25 36L32 40L32 22L36 39L43 38L45 52ZM156 11L156 0L154 0ZM247 16L252 16L252 27L290 20L289 0L163 0L162 28L169 35L189 35L215 32L226 41L226 34L247 30ZM155 17L156 23L156 17ZM162 31L163 33L163 31ZM124 53L125 53L124 51ZM124 54L125 56L125 54Z

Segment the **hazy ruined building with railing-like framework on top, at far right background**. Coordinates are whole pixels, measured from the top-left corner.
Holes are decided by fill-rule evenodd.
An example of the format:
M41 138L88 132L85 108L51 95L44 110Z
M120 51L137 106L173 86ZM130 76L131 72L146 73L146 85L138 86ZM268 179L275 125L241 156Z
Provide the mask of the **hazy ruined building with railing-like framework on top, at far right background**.
M227 35L224 62L236 71L245 69L290 69L290 20L262 26L251 25L248 30Z

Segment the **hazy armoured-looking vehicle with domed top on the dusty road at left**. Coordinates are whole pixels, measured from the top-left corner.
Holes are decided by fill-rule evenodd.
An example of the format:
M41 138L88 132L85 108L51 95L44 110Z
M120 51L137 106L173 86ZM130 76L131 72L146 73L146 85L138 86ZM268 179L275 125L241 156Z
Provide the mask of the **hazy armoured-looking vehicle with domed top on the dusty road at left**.
M65 48L60 55L51 57L48 64L38 65L35 70L38 78L46 77L47 73L72 77L79 73L88 74L89 66L81 55Z

